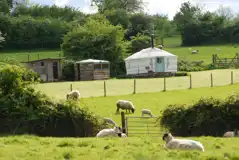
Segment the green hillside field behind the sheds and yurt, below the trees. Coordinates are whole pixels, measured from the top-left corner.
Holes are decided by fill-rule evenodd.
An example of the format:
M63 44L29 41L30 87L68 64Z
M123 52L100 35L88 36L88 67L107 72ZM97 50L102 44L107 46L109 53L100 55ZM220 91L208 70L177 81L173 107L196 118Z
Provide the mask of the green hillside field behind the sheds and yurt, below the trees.
M220 48L220 52L217 54L221 58L232 58L238 52L238 48L234 48L232 45L213 45L213 46L195 46L195 47L180 47L180 36L165 38L164 40L165 50L177 55L179 59L185 59L189 61L205 61L205 63L212 62L212 54L217 53L217 48ZM189 50L198 49L198 54L191 54ZM59 50L47 51L47 50L32 50L32 51L1 51L0 60L6 59L6 57L14 58L19 61L37 60L42 58L57 58L61 53ZM63 54L61 53L61 56Z

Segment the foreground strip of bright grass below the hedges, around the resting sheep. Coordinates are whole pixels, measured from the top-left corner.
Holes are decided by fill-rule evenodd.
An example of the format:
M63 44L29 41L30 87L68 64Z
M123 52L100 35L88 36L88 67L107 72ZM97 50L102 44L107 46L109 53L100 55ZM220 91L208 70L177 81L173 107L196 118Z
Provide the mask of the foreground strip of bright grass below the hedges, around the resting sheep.
M157 138L39 138L31 136L1 137L2 160L222 160L239 159L238 138L190 138L199 140L205 152L165 150ZM107 147L108 146L108 147ZM107 147L108 149L104 149Z

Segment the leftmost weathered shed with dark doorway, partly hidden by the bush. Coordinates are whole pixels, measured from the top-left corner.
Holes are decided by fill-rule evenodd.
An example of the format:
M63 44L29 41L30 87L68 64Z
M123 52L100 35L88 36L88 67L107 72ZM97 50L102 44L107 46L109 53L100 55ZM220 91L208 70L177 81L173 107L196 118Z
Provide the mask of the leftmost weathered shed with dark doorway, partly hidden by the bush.
M39 59L29 62L22 62L36 72L42 81L59 81L62 76L61 58Z

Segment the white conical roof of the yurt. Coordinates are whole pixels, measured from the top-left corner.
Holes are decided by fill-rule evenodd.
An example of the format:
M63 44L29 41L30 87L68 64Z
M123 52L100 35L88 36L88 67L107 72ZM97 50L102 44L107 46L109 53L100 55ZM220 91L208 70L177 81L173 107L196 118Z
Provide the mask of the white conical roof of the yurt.
M141 51L136 52L135 54L127 57L124 60L127 61L131 59L142 59L142 58L151 58L151 57L169 57L169 56L175 56L175 55L159 48L150 47L150 48L142 49Z

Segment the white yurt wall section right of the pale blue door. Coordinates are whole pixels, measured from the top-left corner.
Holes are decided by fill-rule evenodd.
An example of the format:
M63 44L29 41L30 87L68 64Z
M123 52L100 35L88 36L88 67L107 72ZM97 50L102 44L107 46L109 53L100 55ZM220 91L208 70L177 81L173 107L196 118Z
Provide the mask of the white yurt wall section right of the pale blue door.
M165 72L177 72L177 57L176 56L170 56L170 57L164 57L165 62Z

